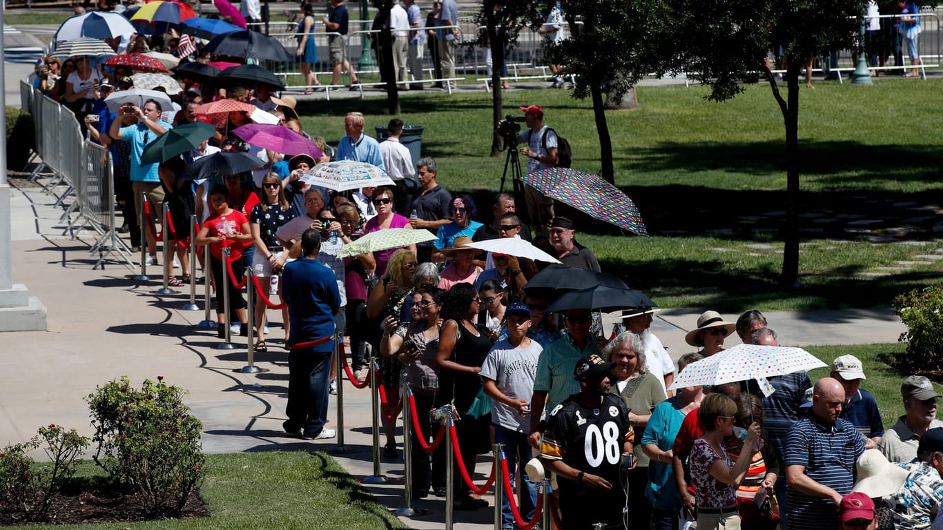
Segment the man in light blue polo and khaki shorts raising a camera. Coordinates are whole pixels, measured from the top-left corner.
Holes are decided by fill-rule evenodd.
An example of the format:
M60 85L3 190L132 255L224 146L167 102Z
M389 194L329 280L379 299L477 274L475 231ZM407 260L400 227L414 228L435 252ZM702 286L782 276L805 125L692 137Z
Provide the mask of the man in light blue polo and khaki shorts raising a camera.
M135 223L141 223L141 195L147 195L150 203L151 215L146 220L147 227L141 226L147 238L147 264L157 265L157 240L155 239L154 223L164 211L164 190L160 187L160 177L157 175L157 164L141 165L141 153L144 147L174 125L160 119L160 104L153 99L144 102L144 108L134 105L125 105L119 109L121 114L131 114L138 119L138 123L122 126L121 119L115 119L108 129L108 136L114 140L124 140L131 144L131 189L134 190L134 207L136 211Z

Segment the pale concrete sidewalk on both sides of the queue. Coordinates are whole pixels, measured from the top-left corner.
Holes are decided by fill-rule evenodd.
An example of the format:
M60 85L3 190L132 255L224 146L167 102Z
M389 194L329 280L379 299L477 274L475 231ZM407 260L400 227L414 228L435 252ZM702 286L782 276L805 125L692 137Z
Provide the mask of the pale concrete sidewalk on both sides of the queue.
M28 439L50 422L91 435L85 396L96 385L123 375L135 384L162 375L169 384L189 389L187 401L203 422L207 453L326 450L337 442L299 442L282 436L288 353L277 340L282 336L278 311L269 311L275 343L270 343L268 353L256 356L256 364L268 372L239 373L246 364L244 340L234 339L239 346L235 350L217 350L221 341L215 332L193 327L203 320L204 312L181 309L188 301L186 292L157 296L157 280L135 282L130 279L133 272L121 265L109 263L104 270L92 270L98 257L88 249L97 238L90 232L79 234L77 240L63 237L61 209L52 207L53 202L39 188L13 190L13 278L27 285L49 313L47 332L0 337L5 354L0 356L0 444ZM202 303L202 290L198 302ZM657 313L653 331L673 357L693 350L684 343L684 334L701 311ZM791 345L893 342L904 329L889 311L774 311L768 316L781 340ZM356 452L337 457L348 472L367 476L372 474L370 393L346 381L343 391L345 443ZM332 401L329 426L336 428L335 405ZM402 436L399 439L402 443ZM402 461L384 461L381 469L399 481L368 488L390 508L402 506ZM488 472L488 466L479 464L478 470L476 483L481 484L485 479L481 472ZM430 499L417 505L431 513L408 524L441 527L444 502ZM486 528L491 526L491 514L491 509L455 512L455 521L463 528Z

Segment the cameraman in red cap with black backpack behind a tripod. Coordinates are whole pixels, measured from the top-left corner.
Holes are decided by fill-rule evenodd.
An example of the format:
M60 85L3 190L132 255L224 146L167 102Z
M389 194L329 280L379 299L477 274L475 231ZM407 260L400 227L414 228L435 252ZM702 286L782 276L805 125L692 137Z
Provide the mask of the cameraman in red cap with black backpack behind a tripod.
M556 132L543 124L543 108L537 105L521 107L527 130L522 131L518 140L527 145L521 147L521 155L528 158L527 171L532 174L556 166ZM546 132L546 140L544 133ZM554 199L544 195L533 186L524 186L524 201L534 230L541 236L550 235L550 222L554 219Z

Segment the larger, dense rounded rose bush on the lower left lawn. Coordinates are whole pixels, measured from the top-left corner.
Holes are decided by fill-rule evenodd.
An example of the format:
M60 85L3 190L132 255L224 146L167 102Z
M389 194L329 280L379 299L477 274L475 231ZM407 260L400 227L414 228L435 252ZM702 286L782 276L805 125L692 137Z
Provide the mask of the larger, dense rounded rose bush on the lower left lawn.
M134 389L127 377L98 387L91 408L95 463L114 479L141 492L152 515L178 516L206 473L200 446L202 424L183 404L184 389L163 377Z

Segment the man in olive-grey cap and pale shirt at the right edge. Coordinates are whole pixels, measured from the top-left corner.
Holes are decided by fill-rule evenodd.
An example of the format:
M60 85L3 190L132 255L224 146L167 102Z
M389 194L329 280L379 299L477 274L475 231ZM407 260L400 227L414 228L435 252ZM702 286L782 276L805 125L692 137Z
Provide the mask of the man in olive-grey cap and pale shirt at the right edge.
M930 379L922 375L911 375L901 385L903 411L894 426L885 431L878 449L891 462L909 462L917 456L917 447L923 433L943 422L936 419L936 393Z

